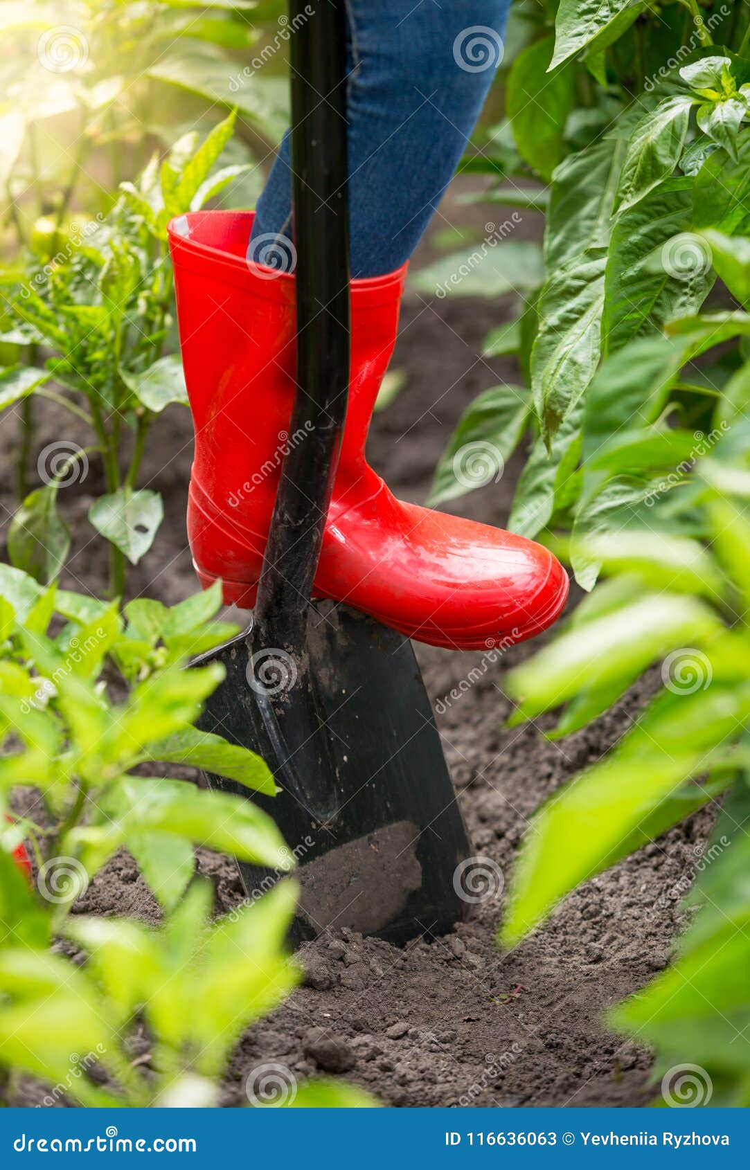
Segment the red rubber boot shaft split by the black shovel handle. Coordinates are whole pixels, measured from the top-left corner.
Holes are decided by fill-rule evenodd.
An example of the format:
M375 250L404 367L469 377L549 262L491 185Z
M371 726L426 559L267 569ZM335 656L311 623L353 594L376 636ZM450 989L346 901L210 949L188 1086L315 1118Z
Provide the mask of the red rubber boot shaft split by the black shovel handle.
M249 508L264 532L284 454L302 436L289 434L295 278L246 260L252 223L252 212L194 212L172 221L170 247L195 428L193 480L225 514L239 517ZM350 393L335 496L367 488L364 447L395 342L405 273L351 284Z

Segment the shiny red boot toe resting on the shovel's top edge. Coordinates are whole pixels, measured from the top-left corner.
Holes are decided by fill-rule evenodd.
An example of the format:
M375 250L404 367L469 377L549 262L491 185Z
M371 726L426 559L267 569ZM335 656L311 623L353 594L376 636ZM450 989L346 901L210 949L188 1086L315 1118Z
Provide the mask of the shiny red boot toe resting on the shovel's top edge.
M326 596L455 649L505 648L559 617L567 574L543 545L387 497L329 525Z

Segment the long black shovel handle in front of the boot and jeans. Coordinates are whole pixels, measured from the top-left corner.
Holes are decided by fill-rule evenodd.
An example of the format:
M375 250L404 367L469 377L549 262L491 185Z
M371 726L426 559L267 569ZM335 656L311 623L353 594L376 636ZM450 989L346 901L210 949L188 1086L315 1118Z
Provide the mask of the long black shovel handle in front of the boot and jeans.
M263 558L254 642L302 653L349 390L346 13L290 0L297 394Z

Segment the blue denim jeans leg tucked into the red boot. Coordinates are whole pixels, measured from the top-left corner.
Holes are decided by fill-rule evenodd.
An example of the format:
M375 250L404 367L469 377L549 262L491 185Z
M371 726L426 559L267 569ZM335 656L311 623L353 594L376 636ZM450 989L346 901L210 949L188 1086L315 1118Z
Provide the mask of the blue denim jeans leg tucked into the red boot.
M502 60L510 0L346 7L351 274L380 276L408 260L453 177ZM257 202L248 257L293 255L283 245L268 248L291 230L287 133Z

